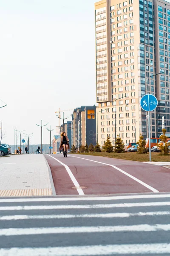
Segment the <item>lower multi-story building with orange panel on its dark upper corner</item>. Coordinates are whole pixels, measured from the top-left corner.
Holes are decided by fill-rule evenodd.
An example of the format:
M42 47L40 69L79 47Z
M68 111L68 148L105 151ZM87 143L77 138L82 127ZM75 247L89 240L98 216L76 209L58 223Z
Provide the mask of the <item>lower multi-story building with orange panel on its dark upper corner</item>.
M72 114L72 145L96 145L96 106L74 109Z

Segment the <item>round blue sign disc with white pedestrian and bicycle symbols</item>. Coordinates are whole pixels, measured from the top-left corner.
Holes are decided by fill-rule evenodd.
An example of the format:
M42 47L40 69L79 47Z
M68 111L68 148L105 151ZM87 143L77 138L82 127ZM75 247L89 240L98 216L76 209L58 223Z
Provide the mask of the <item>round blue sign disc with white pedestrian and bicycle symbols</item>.
M158 100L152 94L145 94L141 98L140 105L144 111L150 112L150 111L153 111L154 109L156 109L156 107L158 105Z

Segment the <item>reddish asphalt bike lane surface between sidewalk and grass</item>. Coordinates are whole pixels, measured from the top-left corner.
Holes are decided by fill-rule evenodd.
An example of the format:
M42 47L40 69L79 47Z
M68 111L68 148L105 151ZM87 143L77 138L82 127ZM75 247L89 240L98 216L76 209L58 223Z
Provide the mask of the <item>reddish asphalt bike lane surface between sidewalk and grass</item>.
M51 154L54 158L48 154L44 156L51 168L57 195L78 195L78 192L65 167L54 158L70 168L85 195L153 192L112 166L102 163L118 167L159 192L170 192L170 170L162 166L89 155L68 154L67 158L62 154Z

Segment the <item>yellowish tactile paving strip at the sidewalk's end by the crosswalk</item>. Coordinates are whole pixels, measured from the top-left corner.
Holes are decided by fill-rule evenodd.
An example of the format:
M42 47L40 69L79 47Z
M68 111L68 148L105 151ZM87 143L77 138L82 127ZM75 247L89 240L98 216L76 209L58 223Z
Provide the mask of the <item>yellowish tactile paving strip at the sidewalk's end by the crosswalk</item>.
M14 190L0 190L0 197L7 196L50 196L51 189L14 189Z

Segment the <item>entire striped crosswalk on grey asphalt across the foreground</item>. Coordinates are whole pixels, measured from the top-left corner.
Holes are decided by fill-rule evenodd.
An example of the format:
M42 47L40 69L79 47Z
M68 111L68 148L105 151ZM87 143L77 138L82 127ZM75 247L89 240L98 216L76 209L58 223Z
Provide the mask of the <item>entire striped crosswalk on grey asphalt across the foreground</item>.
M170 194L0 199L0 256L170 255Z

